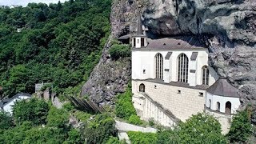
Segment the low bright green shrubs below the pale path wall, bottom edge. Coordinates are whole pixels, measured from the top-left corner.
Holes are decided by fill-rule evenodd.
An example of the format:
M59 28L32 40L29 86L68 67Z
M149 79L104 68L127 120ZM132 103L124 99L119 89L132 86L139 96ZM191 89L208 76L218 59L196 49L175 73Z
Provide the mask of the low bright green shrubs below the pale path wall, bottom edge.
M130 142L134 144L154 144L157 142L157 134L154 133L128 131L127 134Z

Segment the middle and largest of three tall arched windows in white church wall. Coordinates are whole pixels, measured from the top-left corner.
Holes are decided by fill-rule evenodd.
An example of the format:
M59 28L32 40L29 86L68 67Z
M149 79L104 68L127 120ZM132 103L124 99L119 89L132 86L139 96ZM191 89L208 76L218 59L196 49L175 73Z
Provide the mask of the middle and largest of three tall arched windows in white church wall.
M186 54L178 56L178 82L187 82L189 73L189 58Z

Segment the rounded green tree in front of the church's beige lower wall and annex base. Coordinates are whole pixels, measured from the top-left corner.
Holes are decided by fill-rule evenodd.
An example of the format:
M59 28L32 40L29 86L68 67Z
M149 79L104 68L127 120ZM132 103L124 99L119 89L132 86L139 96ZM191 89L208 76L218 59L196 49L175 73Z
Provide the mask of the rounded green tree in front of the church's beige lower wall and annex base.
M178 125L181 143L227 143L221 124L208 114L196 114Z

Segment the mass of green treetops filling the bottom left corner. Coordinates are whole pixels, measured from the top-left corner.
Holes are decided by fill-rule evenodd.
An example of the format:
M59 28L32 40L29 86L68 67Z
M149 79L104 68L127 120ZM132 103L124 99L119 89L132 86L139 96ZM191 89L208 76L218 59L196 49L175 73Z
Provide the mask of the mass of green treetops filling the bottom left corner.
M0 130L0 144L83 143L80 131L68 124L67 111L49 105L36 98L16 102L13 119L1 114L9 129L4 127L6 130Z

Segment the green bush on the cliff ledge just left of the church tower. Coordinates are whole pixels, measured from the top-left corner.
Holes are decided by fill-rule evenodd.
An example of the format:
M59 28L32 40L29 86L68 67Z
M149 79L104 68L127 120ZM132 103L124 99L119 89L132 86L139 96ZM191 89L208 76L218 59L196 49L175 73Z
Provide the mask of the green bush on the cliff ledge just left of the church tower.
M110 47L111 58L126 58L130 57L130 46L114 44Z

